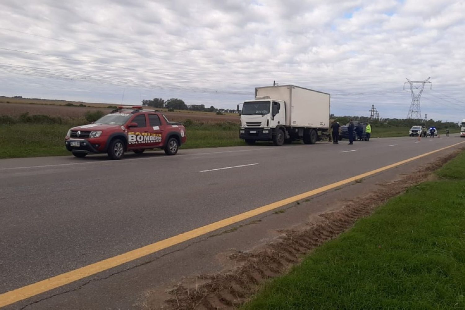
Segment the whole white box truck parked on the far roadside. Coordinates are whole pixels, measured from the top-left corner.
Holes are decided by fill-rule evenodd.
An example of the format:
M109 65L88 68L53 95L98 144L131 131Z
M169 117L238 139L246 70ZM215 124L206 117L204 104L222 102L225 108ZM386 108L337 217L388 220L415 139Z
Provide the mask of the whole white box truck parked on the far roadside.
M293 85L256 87L255 99L242 104L239 138L248 145L260 140L314 144L328 134L329 108L325 92Z

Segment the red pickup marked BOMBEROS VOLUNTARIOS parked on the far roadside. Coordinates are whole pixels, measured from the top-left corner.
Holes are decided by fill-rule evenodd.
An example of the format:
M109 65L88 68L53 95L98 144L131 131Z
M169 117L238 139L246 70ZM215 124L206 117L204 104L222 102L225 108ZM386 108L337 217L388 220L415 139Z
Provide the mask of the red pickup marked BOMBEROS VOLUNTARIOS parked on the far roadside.
M111 159L122 158L126 151L141 154L155 148L175 155L185 142L186 128L181 123L141 106L119 106L93 124L71 128L65 138L66 149L76 157L107 153Z

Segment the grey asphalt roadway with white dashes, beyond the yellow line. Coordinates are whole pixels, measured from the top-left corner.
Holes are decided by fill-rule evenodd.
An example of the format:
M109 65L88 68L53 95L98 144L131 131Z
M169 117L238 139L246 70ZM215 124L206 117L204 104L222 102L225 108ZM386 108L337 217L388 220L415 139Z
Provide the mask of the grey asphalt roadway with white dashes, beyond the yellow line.
M151 152L120 161L0 160L0 294L462 141L385 138Z

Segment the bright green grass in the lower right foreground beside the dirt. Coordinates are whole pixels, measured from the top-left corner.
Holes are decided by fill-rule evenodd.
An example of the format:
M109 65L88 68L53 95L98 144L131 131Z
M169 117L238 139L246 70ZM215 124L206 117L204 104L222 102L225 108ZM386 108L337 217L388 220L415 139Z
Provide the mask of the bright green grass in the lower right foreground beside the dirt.
M465 309L464 167L462 153L242 309Z

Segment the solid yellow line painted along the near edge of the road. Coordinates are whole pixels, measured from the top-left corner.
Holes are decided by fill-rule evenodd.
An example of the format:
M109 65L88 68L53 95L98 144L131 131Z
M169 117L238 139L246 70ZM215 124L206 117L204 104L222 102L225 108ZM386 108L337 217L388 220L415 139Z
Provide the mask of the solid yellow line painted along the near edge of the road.
M170 238L167 238L165 240L161 240L161 241L155 242L153 244L143 246L143 247L141 247L139 249L135 249L133 251L129 251L129 252L114 256L114 257L110 257L110 258L104 259L104 260L102 260L100 262L90 264L90 265L87 265L87 266L84 266L84 267L81 267L81 268L78 268L78 269L75 269L75 270L71 270L71 271L68 271L66 273L60 274L58 276L51 277L51 278L48 278L48 279L45 279L45 280L42 280L42 281L39 281L39 282L36 282L36 283L33 283L33 284L29 284L29 285L20 287L20 288L15 289L15 290L10 290L10 291L0 295L0 307L4 307L4 306L7 306L9 304L16 303L16 302L18 302L20 300L23 300L23 299L26 299L26 298L29 298L29 297L33 297L35 295L46 292L48 290L53 290L55 288L58 288L60 286L72 283L72 282L80 280L82 278L92 276L92 275L94 275L96 273L99 273L101 271L108 270L110 268L119 266L121 264L125 264L127 262L133 261L133 260L138 259L140 257L144 257L146 255L155 253L157 251L169 248L169 247L171 247L173 245L180 244L180 243L185 242L187 240L193 239L195 237L202 236L202 235L204 235L206 233L218 230L218 229L226 227L228 225L235 224L235 223L238 223L240 221L246 220L248 218L252 218L254 216L265 213L267 211L271 211L273 209L282 207L282 206L284 206L286 204L291 204L293 202L296 202L297 200L308 198L310 196L320 194L320 193L322 193L324 191L328 191L328 190L334 189L336 187L339 187L341 185L345 185L345 184L354 182L355 180L360 179L360 178L369 177L369 176L371 176L373 174L376 174L376 173L379 173L379 172L382 172L382 171L397 167L399 165L403 165L405 163L411 162L413 160L416 160L416 159L431 155L433 153L440 152L440 151L443 151L445 149L457 146L457 145L459 145L459 144L461 144L463 142L465 142L465 141L456 143L454 145L449 145L449 146L443 147L441 149L438 149L438 150L435 150L435 151L432 151L432 152L427 152L427 153L424 153L424 154L421 154L421 155L418 155L418 156L415 156L415 157L412 157L412 158L409 158L409 159L405 159L405 160L399 161L397 163L394 163L392 165L387 165L387 166L381 167L379 169L368 171L368 172L359 174L359 175L357 175L355 177L352 177L352 178L346 178L345 180L342 180L342 181L339 181L339 182L336 182L336 183L332 183L330 185L326 185L326 186L314 189L312 191L307 191L305 193L302 193L302 194L299 194L299 195L296 195L296 196L293 196L293 197L289 197L289 198L286 198L286 199L283 199L283 200L279 200L279 201L273 202L271 204L267 204L267 205L264 205L262 207L259 207L259 208L256 208L256 209L253 209L253 210L250 210L250 211L235 215L235 216L230 217L230 218L222 219L222 220L220 220L218 222L215 222L215 223L212 223L212 224L205 225L203 227L193 229L192 231L186 231L186 232L184 232L182 234L179 234L177 236L170 237Z

